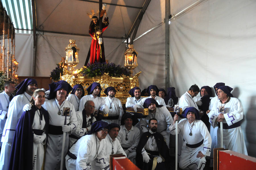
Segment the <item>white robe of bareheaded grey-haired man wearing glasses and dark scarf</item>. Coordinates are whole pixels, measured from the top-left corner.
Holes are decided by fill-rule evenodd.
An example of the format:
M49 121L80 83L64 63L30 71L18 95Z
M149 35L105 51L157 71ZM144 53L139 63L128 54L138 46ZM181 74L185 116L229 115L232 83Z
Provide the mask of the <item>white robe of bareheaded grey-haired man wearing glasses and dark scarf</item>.
M77 125L77 128L76 130L74 130L72 132L73 135L77 136L77 137L81 137L81 136L84 136L85 134L87 134L87 129L88 131L91 130L91 127L92 127L92 123L96 121L96 118L95 117L92 117L91 119L91 116L87 117L86 116L86 122L87 122L87 129L86 128L82 128L82 125L83 125L83 115L82 115L82 111L77 111L76 112L76 115L77 115L77 121L78 121L78 125ZM91 119L91 121L89 121L89 119ZM71 138L69 137L69 147L72 146L72 144L77 141L77 139L75 138Z

